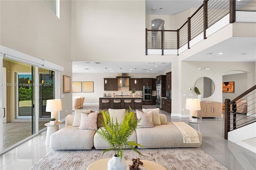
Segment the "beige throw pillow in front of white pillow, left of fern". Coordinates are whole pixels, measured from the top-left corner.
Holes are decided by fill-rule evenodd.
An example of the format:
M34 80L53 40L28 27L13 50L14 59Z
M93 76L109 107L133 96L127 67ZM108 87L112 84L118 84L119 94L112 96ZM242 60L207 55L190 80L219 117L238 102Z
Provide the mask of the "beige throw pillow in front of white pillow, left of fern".
M98 111L93 113L81 113L81 123L78 129L97 130Z

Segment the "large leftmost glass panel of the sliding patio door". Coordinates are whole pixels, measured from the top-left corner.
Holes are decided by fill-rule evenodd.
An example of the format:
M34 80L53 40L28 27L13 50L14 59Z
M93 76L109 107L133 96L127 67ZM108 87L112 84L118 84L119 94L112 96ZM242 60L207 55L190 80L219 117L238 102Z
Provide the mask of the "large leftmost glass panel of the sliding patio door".
M33 66L3 59L3 150L35 134Z

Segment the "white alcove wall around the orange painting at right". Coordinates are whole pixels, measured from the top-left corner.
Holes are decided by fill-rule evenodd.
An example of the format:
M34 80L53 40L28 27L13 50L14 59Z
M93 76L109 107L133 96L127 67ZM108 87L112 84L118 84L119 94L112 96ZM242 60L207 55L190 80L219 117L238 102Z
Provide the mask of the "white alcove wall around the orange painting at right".
M239 73L232 75L223 75L222 82L234 81L234 93L222 93L222 103L225 102L225 99L233 100L238 97L246 90L247 87L247 73Z

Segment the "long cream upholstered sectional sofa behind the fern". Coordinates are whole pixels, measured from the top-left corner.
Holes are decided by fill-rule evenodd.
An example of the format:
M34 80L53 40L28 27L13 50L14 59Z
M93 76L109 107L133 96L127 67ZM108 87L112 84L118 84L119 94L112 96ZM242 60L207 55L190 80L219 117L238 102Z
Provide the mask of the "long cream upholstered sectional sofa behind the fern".
M146 118L144 116L147 115L150 110L143 109L143 111L144 112L136 111L136 117L140 118L142 115L144 121L140 122L140 126L130 137L130 141L141 144L144 146L143 148L198 147L201 145L202 134L186 123L180 122L178 123L180 127L177 127L174 123L166 122L166 116L160 114L158 109L152 109L154 113L151 114L152 119L149 117L149 119L151 119L150 121L152 121L150 122L151 125L149 125L150 123L145 121ZM50 148L54 150L84 150L93 147L96 149L109 148L109 145L98 136L96 130L81 129L81 120L84 119L82 114L86 113L88 117L88 115L92 114L90 112L92 111L78 109L75 111L75 115L68 115L66 117L66 126L50 136ZM125 109L109 109L109 113L111 112L114 112L114 115L117 115L116 113L123 115ZM93 114L98 114L98 112ZM96 118L96 126L98 127L102 126L100 119L103 120L100 114L101 113L99 113ZM122 119L120 115L118 115L119 120ZM86 124L86 126L88 125ZM184 130L181 130L182 127L190 132L194 132L197 142L191 143L185 140L186 137L184 136ZM95 127L93 128L95 129Z

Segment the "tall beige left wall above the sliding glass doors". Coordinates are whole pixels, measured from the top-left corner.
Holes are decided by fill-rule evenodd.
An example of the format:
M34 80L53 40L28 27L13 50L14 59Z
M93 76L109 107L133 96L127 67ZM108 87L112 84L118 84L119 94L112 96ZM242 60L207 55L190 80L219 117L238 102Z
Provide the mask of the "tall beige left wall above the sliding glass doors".
M62 75L72 77L71 1L60 1L60 19L43 1L0 1L1 45L64 67ZM64 93L60 119L72 111L72 93ZM68 109L68 113L66 113Z

